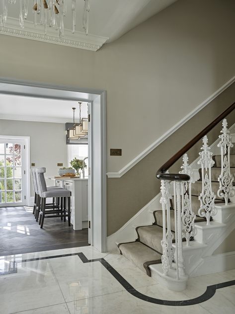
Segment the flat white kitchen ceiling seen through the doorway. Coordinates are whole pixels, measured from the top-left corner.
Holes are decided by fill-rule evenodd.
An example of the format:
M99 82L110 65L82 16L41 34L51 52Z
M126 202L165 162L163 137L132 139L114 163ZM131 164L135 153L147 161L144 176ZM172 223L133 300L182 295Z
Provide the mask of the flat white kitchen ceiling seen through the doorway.
M78 101L0 94L0 119L66 123L79 120ZM87 103L82 103L81 118L87 117Z

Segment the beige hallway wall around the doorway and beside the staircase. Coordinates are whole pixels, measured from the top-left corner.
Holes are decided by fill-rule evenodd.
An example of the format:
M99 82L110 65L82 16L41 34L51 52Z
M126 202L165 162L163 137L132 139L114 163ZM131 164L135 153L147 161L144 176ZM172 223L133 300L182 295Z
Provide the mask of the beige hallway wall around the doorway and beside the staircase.
M118 171L235 75L234 18L234 0L178 0L97 52L1 35L0 76L107 90L108 152L123 151L107 170ZM108 234L157 194L163 159L108 180Z

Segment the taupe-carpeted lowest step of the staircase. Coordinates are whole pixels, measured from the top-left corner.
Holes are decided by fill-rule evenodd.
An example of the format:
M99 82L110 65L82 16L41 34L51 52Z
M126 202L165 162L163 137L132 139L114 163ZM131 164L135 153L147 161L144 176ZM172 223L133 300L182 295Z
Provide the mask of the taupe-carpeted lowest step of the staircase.
M161 260L161 255L156 251L138 241L121 243L119 249L123 256L128 258L133 264L146 272L144 263Z

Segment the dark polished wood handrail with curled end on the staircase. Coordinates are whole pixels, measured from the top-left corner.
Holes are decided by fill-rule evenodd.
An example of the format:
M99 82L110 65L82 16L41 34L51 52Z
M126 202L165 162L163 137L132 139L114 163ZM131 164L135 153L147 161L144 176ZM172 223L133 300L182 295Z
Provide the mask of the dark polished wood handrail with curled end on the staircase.
M203 129L198 135L196 135L188 144L186 144L180 151L178 151L173 157L166 161L158 170L157 178L165 179L169 176L169 173L165 173L180 157L182 157L190 148L192 148L199 140L201 140L208 132L210 132L221 120L223 120L228 114L230 114L235 109L235 102L229 106L224 112L222 112L214 121L212 121L205 129ZM165 173L163 175L163 173ZM167 174L167 177L164 177ZM177 175L177 178L170 180L185 181L185 174L171 174L171 177Z

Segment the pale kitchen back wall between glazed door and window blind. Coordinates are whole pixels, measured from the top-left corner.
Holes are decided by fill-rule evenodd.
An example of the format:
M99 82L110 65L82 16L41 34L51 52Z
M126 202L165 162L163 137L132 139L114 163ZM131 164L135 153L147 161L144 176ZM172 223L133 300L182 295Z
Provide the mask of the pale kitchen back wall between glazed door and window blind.
M45 175L56 175L57 163L67 166L65 124L0 120L0 135L29 136L30 162L46 167ZM31 195L33 195L31 188Z

